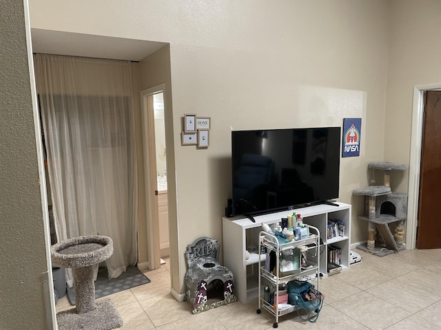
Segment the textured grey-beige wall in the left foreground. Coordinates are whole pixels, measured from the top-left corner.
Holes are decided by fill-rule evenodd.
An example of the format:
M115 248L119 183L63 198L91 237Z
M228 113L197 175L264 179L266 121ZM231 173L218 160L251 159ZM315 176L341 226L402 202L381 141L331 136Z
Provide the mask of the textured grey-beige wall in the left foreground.
M0 1L0 329L48 329L47 271L23 1Z

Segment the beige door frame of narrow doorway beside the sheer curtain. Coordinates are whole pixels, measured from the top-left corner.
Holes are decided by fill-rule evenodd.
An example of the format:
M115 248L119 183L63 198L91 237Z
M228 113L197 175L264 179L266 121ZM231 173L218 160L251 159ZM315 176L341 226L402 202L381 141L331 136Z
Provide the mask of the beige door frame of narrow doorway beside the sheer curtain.
M149 109L147 98L153 94L164 92L165 85L143 89L141 98L141 119L143 127L143 156L145 177L145 213L147 224L147 258L150 270L161 267L161 247L159 241L159 214L156 190L156 146L154 137L153 109ZM165 109L165 102L164 102ZM147 148L148 146L148 148Z

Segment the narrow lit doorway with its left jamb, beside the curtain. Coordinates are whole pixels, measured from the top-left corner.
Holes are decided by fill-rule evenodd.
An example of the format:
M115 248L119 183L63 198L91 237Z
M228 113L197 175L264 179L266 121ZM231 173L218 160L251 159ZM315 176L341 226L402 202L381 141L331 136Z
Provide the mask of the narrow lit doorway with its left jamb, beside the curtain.
M170 254L163 91L163 84L141 91L147 249L150 270L161 267L163 262L161 257Z

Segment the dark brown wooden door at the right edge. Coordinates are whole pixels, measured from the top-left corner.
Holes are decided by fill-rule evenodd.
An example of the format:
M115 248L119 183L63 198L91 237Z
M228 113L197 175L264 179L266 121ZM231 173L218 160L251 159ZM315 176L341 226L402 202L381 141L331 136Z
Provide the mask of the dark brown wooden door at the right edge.
M427 91L422 133L417 249L441 248L441 91Z

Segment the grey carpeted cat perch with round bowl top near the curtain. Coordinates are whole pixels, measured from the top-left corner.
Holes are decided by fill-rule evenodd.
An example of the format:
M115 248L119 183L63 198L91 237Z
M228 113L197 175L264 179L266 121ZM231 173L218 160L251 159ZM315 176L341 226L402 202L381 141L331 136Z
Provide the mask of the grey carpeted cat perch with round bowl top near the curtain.
M94 265L112 256L110 237L90 235L52 245L52 265L72 268L76 307L57 314L59 329L110 330L123 325L112 300L95 303Z

